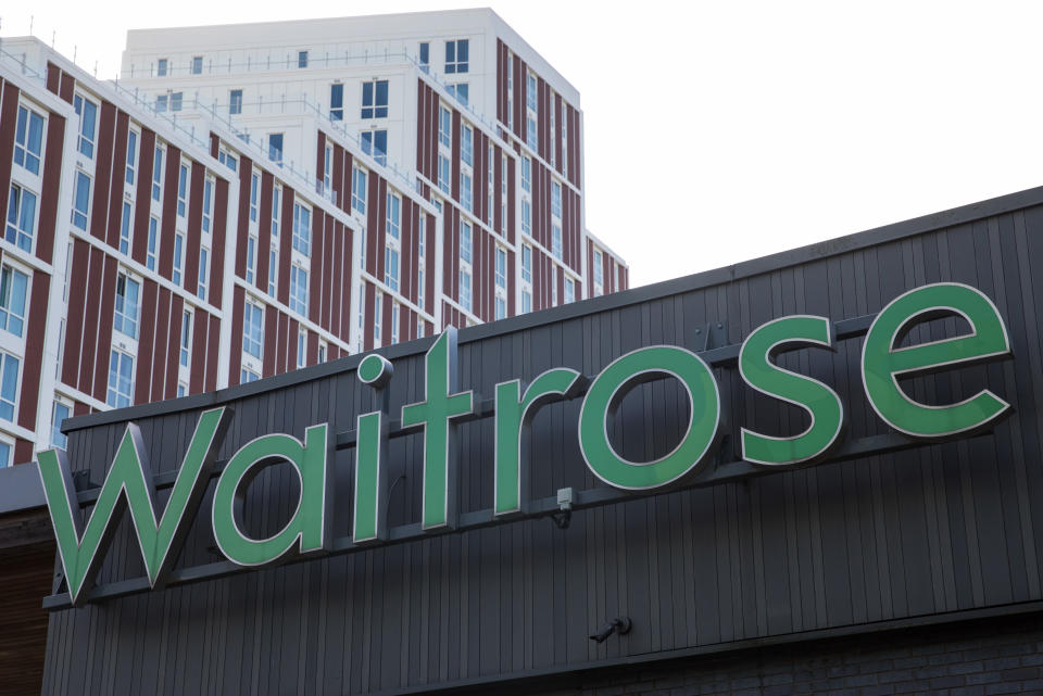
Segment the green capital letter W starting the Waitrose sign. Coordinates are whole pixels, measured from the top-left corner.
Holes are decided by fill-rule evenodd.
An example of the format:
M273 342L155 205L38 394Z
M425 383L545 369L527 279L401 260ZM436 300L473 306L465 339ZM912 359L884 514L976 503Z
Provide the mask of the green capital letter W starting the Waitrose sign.
M86 529L65 453L61 450L37 453L43 493L73 606L79 606L84 590L93 584L93 578L127 507L130 508L141 557L149 574L149 585L155 587L166 575L174 565L176 549L190 527L185 523L185 517L196 509L206 491L215 445L221 442L227 427L224 407L204 412L200 416L159 522L155 519L153 473L146 456L141 431L133 422L127 423L123 433L116 458L98 494Z

